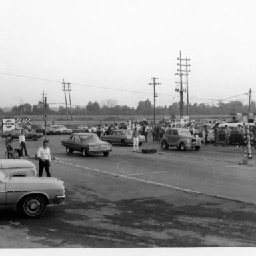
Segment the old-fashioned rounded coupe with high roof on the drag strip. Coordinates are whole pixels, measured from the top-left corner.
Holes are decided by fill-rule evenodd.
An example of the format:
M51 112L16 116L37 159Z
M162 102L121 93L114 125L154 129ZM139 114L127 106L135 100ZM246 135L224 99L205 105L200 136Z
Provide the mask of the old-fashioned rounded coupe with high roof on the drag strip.
M201 139L191 135L188 129L171 128L163 135L161 145L165 150L169 149L169 147L177 147L182 151L185 151L188 147L199 150L201 148Z

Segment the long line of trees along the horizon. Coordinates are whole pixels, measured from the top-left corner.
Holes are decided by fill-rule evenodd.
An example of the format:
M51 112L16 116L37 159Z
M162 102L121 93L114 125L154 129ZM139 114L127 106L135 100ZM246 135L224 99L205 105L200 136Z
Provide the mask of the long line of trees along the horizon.
M180 113L179 102L175 102L172 105L157 106L155 107L156 115L179 115ZM153 115L153 104L149 99L145 101L139 101L137 107L128 107L127 105L117 105L115 100L107 100L101 105L95 102L89 102L85 107L75 106L72 107L73 115ZM183 110L186 113L187 106L183 105ZM44 106L43 102L39 101L37 105L31 105L25 103L23 105L14 106L11 111L3 111L0 108L1 115L43 115ZM51 109L49 104L46 106L47 115L66 115L67 109L62 105L59 108ZM229 103L223 103L219 101L216 105L209 104L189 104L190 115L218 115L218 114L229 114L229 113L247 113L249 111L249 105L244 105L241 101L229 101ZM250 112L256 112L256 103L251 101ZM68 108L68 113L71 113ZM185 114L184 113L184 114Z

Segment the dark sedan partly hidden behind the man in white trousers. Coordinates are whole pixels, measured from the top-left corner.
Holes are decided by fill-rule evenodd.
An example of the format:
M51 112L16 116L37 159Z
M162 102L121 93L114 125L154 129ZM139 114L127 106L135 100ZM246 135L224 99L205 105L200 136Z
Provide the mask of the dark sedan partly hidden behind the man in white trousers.
M130 129L121 129L121 130L115 130L111 131L110 135L103 135L101 139L103 141L107 141L112 144L122 144L124 146L132 144L133 145L133 139L132 138L133 131ZM145 141L145 136L139 136L139 146L142 145L143 141Z

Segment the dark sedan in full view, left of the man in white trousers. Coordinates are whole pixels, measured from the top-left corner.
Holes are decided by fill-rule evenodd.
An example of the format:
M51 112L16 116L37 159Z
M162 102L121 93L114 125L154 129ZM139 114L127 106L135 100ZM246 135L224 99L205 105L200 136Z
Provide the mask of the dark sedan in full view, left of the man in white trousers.
M61 144L66 148L67 154L73 151L82 152L83 156L90 153L103 153L105 157L112 151L112 145L106 141L101 141L95 133L73 133L68 139L63 139Z

